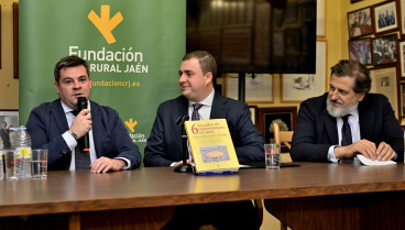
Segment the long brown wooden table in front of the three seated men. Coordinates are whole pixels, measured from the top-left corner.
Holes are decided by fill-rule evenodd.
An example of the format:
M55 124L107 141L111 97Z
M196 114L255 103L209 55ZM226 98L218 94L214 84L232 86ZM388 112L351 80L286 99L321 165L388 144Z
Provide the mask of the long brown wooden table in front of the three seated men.
M111 226L114 229L124 226L160 229L172 217L174 206L250 199L266 199L267 210L293 229L298 223L309 222L305 218L311 216L292 215L296 207L302 208L304 215L313 213L311 209L303 207L308 200L332 204L330 200L350 201L350 196L362 199L369 194L379 199L388 196L388 199L373 202L372 208L386 207L386 201L393 197L405 207L403 164L373 167L298 164L302 166L280 171L241 169L238 175L228 176L195 176L174 173L172 167L157 167L103 175L50 172L47 180L0 182L0 217L3 217L0 229L35 229L37 224L41 229L54 229L55 226L59 226L58 229L111 229ZM22 223L15 226L17 219ZM398 221L405 226L405 217Z

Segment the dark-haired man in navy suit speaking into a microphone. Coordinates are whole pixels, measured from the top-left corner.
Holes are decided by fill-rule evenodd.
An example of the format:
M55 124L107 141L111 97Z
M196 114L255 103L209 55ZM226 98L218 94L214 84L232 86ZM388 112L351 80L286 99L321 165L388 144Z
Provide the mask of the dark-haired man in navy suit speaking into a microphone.
M118 112L88 100L91 77L86 61L64 57L54 75L59 99L34 108L26 123L32 147L48 149L48 168L107 173L139 167L142 156ZM86 97L87 109L77 111L78 97ZM81 152L78 143L86 134L90 150Z

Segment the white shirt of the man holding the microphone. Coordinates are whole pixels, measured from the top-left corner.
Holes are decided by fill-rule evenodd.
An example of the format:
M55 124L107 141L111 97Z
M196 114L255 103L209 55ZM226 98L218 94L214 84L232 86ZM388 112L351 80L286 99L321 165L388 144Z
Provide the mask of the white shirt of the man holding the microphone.
M65 112L66 116L66 120L67 120L67 124L69 125L69 128L72 127L73 121L75 120L75 116L72 113L73 109L70 109L68 106L66 106L66 103L64 103L61 100L62 103L62 108ZM87 109L90 110L90 101L87 101ZM90 162L92 163L94 161L97 160L97 154L96 154L96 149L95 149L95 141L94 141L94 136L92 136L92 129L88 132L89 134L89 142L90 142ZM69 171L75 171L76 166L75 166L75 147L77 146L77 141L72 136L72 134L66 131L65 133L62 134L63 139L65 140L67 146L69 147L69 150L72 151L72 161L70 161L70 167ZM123 157L117 157L120 160L124 160L127 162L127 167L124 167L123 169L128 169L131 167L131 162L128 158L123 158Z

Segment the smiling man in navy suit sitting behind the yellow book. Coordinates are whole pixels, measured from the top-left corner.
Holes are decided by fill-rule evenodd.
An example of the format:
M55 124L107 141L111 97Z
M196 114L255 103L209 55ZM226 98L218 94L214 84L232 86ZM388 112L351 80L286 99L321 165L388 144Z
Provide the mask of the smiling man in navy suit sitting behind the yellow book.
M239 162L264 162L263 136L252 123L249 107L215 92L216 72L216 61L208 52L197 51L184 56L178 79L183 95L158 107L144 152L145 166L182 163L182 132L176 120L187 114L198 120L227 119ZM259 229L251 201L211 204L209 210L206 207L179 206L165 229L182 229L182 226L198 229L201 224L214 224L218 229Z

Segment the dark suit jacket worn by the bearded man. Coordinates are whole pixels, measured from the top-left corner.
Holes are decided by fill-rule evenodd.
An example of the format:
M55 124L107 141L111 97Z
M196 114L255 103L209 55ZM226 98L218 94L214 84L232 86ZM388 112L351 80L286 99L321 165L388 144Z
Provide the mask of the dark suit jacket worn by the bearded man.
M310 98L300 105L294 130L291 155L293 161L328 162L328 150L339 145L336 118L326 109L324 96ZM385 142L396 152L396 161L404 161L404 131L396 120L388 99L383 95L366 94L359 102L360 136Z

